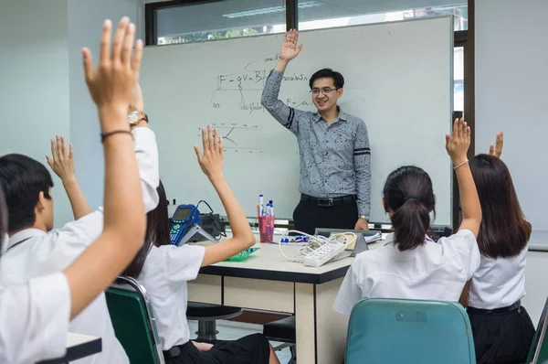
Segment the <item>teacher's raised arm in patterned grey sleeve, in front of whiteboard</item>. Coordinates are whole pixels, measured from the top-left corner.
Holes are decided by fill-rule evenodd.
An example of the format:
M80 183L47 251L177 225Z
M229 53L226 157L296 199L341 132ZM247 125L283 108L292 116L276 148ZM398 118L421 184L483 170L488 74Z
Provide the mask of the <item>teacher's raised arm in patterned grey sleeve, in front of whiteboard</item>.
M283 79L283 72L288 63L299 55L302 48L302 45L297 47L298 40L299 32L295 29L291 29L284 35L281 50L279 51L278 64L265 81L265 88L261 96L261 103L270 115L293 134L299 133L299 119L304 112L295 110L279 100L279 88Z

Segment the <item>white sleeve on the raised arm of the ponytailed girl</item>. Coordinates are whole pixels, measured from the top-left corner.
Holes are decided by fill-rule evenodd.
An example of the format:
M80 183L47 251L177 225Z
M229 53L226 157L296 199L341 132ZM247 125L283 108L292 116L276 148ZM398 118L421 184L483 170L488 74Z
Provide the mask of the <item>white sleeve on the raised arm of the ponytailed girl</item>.
M478 241L474 233L470 230L458 230L456 234L448 238L440 238L442 244L448 244L455 252L459 265L463 269L465 279L469 281L476 273L481 261L479 253Z

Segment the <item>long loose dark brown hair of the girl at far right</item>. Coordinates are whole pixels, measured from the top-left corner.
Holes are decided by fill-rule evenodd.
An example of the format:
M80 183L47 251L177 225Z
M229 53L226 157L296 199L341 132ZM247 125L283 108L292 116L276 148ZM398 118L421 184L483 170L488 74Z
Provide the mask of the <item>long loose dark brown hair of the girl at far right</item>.
M479 252L486 257L517 256L531 237L510 170L494 155L476 155L469 161L481 205Z

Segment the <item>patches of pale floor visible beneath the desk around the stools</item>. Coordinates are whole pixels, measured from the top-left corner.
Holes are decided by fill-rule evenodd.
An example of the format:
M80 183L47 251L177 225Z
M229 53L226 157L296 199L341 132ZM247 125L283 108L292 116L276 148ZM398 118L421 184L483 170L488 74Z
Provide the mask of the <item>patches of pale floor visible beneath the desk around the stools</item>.
M196 337L195 332L198 329L197 321L188 321L188 327L190 327L190 339L192 340ZM219 340L236 340L246 335L262 333L262 326L219 320L217 321L217 331L219 332L217 334ZM276 348L280 343L270 341L270 344ZM291 359L290 348L281 349L276 354L278 355L280 364L287 364Z

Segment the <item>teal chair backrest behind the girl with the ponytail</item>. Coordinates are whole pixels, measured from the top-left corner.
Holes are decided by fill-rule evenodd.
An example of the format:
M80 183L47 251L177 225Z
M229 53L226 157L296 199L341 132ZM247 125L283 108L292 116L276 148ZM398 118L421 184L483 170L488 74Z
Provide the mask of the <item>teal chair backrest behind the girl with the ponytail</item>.
M475 364L469 316L458 303L365 298L353 306L345 363Z

